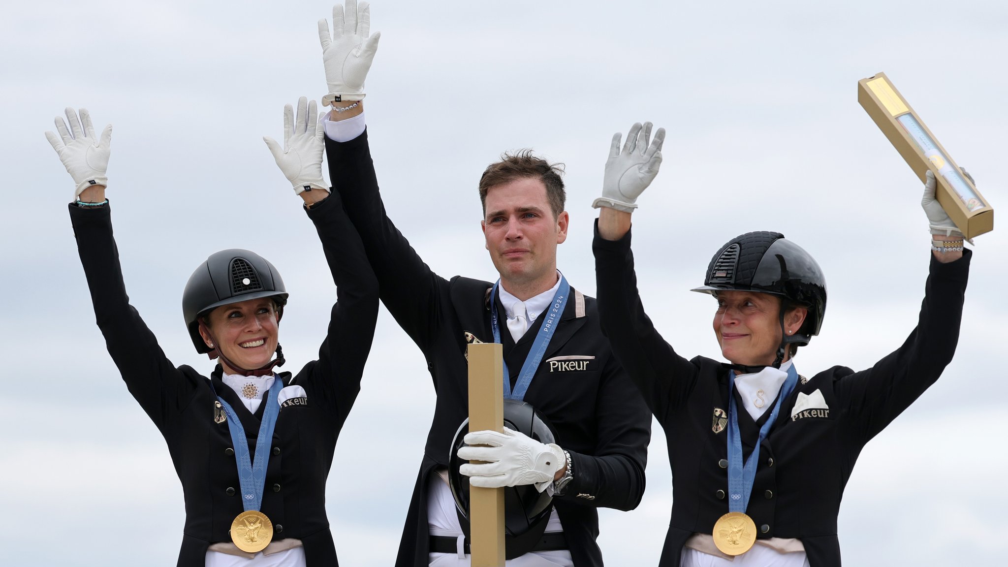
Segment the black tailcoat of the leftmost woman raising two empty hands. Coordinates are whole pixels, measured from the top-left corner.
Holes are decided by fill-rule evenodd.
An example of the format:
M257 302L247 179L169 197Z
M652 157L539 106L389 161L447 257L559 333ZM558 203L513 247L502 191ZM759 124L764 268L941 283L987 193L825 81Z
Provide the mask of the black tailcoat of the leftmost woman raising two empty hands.
M110 207L71 205L70 213L109 354L130 393L164 436L182 483L185 526L178 566L202 567L210 544L231 541L231 522L243 509L228 424L214 420L214 389L235 409L253 455L262 412L274 402L264 401L252 415L221 381L220 365L213 373L213 389L211 378L191 366L175 368L129 305ZM337 560L326 518L326 479L337 436L360 390L378 316L378 286L339 196L330 196L307 214L322 239L339 301L319 359L293 377L290 372L278 374L285 386L303 387L307 404L280 410L260 509L273 523L274 539L299 539L307 565L329 566Z

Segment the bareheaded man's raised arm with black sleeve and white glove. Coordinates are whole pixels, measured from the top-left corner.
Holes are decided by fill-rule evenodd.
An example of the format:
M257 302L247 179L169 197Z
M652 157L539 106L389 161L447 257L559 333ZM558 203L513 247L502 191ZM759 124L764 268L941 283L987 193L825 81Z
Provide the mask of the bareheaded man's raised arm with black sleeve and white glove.
M423 263L409 242L385 214L378 180L364 131L364 79L378 47L379 33L370 34L371 10L356 0L333 9L333 31L319 22L323 62L332 101L327 127L353 121L358 129L346 137L327 136L330 179L340 192L350 220L357 227L381 289L381 299L392 317L425 348L434 335L432 325L438 303L447 299L448 281ZM346 124L342 124L346 126ZM344 127L344 131L348 128Z

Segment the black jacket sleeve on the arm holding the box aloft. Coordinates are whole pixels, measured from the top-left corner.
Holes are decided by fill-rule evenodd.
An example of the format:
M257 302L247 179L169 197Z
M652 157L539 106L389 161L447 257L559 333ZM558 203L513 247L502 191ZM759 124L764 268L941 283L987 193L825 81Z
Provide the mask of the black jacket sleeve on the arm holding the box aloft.
M934 383L956 353L973 252L964 250L962 258L949 263L929 255L930 273L916 328L894 352L836 384L845 411L856 417L846 423L855 428L855 440L861 445Z

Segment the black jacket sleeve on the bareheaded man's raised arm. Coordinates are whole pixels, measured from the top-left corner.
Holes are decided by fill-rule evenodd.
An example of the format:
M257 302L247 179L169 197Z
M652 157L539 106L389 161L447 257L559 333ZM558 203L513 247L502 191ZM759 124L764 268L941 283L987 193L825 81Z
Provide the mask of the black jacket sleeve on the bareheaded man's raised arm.
M381 300L421 350L435 334L448 281L434 273L385 214L368 146L368 132L347 141L326 138L330 180L343 197L378 277Z

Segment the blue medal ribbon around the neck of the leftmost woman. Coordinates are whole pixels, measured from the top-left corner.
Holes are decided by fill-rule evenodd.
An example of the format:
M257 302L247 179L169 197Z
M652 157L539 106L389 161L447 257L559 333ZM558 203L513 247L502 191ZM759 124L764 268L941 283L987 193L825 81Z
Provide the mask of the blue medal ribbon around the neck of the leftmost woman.
M213 387L213 384L211 384ZM242 505L245 511L259 511L262 504L263 487L266 484L266 463L269 461L269 445L273 442L273 429L276 427L276 417L280 413L280 405L276 403L283 380L279 376L273 379L273 385L263 396L262 403L266 409L262 413L259 424L259 437L255 442L255 458L249 456L249 442L245 437L245 428L238 419L234 409L220 395L217 396L228 415L228 430L231 432L231 442L235 446L235 461L238 463L238 482L242 489ZM216 391L214 393L217 393Z

